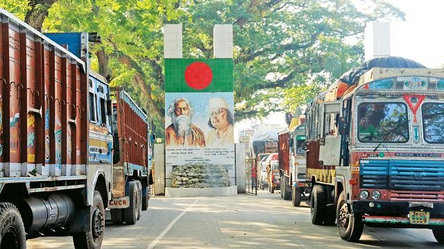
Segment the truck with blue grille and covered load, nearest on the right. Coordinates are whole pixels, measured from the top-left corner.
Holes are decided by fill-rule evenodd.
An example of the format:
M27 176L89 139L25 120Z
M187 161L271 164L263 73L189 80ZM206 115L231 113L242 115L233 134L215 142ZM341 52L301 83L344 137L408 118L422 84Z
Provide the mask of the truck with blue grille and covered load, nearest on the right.
M398 57L346 72L307 108L311 222L346 241L364 225L444 243L444 69Z

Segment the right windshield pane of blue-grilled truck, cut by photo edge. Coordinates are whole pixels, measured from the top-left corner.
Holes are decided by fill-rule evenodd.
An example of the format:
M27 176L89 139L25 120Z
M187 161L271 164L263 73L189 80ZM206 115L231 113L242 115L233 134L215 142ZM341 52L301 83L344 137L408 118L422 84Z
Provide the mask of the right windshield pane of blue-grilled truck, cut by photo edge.
M425 141L444 144L444 103L424 103L421 112Z

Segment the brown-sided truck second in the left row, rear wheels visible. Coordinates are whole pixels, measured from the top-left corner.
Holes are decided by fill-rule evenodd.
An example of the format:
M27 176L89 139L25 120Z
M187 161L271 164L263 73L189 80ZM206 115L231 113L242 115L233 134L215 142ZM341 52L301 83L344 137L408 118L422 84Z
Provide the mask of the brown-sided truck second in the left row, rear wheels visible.
M148 115L123 87L110 87L112 96L111 220L114 224L135 224L148 209L153 175Z

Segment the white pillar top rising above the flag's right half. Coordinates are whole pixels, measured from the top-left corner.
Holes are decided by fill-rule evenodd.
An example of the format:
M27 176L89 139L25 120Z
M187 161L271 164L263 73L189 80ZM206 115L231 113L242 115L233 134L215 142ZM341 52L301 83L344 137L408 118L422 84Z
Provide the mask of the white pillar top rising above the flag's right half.
M233 26L215 24L213 28L214 58L233 58Z

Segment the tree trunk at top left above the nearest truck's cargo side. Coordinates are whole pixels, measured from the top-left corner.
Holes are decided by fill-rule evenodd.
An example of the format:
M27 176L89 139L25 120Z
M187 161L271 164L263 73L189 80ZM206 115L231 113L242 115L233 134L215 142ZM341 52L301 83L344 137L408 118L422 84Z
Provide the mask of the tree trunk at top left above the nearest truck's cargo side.
M57 0L31 0L29 6L31 10L26 13L25 22L37 31L42 31L42 25L51 6Z

